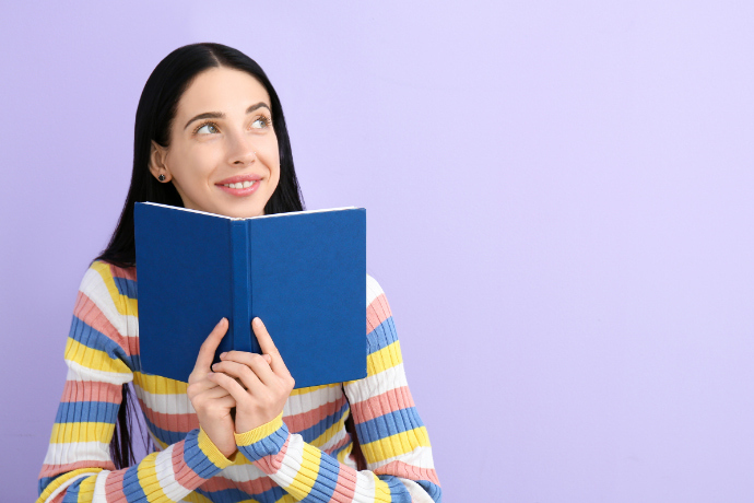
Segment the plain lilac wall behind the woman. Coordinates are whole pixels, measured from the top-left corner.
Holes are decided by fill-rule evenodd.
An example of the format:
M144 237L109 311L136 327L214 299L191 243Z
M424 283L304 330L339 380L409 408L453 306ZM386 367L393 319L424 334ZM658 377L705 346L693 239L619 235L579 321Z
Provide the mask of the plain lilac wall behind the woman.
M754 500L751 2L99 3L0 16L0 500L142 86L202 40L267 70L308 208L367 208L446 501Z

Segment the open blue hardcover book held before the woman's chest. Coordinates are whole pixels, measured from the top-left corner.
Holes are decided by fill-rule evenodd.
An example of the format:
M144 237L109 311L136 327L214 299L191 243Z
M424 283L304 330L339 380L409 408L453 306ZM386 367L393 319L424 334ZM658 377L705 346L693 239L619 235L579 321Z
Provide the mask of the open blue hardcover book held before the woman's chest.
M226 317L215 354L260 353L264 321L296 387L366 376L366 210L234 219L137 203L141 371L188 376Z

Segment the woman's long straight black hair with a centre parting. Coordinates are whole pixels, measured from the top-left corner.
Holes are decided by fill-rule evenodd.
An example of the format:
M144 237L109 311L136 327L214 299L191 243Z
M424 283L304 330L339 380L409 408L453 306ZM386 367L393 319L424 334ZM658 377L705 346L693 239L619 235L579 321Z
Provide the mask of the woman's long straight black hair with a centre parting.
M150 172L152 141L163 147L169 147L170 127L180 96L199 73L217 67L247 72L257 79L270 95L272 125L278 137L280 153L280 182L264 206L264 213L286 213L304 209L296 172L293 167L291 140L285 127L283 108L280 105L278 93L275 93L264 71L251 58L231 47L221 44L191 44L174 50L160 61L144 84L133 128L131 186L128 189L126 203L113 237L110 237L107 248L96 259L123 268L137 265L133 237L133 208L137 202L150 201L177 207L184 206L173 184L161 184ZM138 407L132 401L134 399L132 393L128 385L123 385L118 423L110 442L110 454L116 468L125 468L136 463L130 437L130 423L131 416ZM129 401L131 401L130 406Z

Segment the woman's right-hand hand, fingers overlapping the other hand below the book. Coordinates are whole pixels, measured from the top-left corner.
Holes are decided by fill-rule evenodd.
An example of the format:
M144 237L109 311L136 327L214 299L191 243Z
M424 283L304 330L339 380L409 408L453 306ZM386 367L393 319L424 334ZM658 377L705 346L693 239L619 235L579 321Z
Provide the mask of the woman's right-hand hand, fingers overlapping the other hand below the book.
M245 433L275 419L283 410L295 384L264 324L251 326L262 354L229 351L208 378L226 389L236 402L236 433Z

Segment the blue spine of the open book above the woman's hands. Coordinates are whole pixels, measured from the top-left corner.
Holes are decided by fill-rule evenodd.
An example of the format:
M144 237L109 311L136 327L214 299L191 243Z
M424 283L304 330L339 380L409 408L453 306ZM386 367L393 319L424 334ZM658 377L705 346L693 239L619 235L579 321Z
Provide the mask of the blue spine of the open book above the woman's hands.
M233 319L229 330L233 337L233 349L236 351L254 351L254 347L258 346L257 339L251 334L249 247L249 236L245 222L231 221Z

